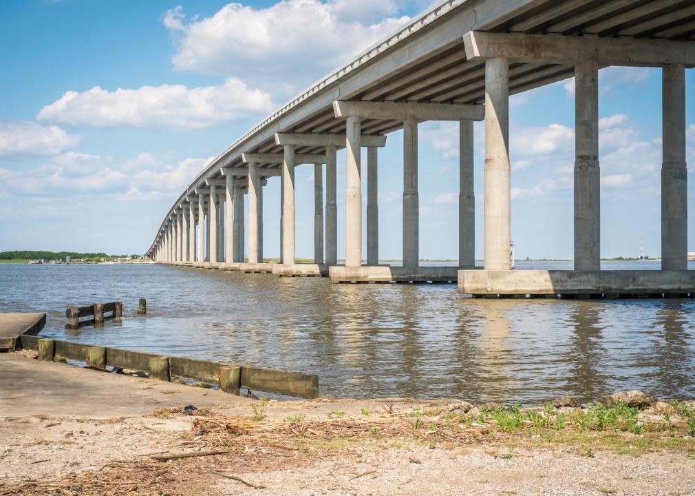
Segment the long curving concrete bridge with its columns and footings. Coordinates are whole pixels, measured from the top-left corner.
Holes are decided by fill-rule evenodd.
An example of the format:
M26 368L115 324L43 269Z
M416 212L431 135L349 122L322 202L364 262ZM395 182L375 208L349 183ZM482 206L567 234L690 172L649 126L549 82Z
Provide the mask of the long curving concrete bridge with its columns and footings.
M695 66L694 39L690 0L440 2L224 150L174 202L145 256L328 275L335 282L457 280L460 291L474 295L695 293L695 271L686 270L685 163L685 69ZM598 70L610 65L662 68L662 271L599 270ZM512 271L509 95L573 76L574 270ZM459 122L458 268L418 264L418 124L428 120ZM475 270L475 120L485 120L486 129L483 270ZM379 266L377 156L398 129L404 130L403 266ZM338 164L336 150L343 147L346 163ZM368 150L366 253L362 147ZM313 264L295 263L295 167L302 164L314 167ZM347 177L345 264L338 264L336 246L338 166ZM271 177L281 182L279 264L263 263L263 186Z

